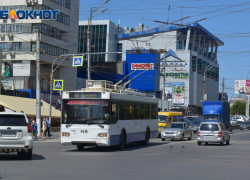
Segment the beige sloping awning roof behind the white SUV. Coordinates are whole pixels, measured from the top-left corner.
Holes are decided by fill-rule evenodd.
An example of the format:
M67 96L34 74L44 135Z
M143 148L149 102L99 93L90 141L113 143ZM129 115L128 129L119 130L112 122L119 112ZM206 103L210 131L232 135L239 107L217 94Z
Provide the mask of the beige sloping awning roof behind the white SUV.
M49 104L43 100L41 102L43 102L43 106L41 106L41 116L49 116ZM26 116L36 116L36 99L0 95L0 105L15 112L23 111ZM56 110L52 106L51 117L61 118L61 111Z

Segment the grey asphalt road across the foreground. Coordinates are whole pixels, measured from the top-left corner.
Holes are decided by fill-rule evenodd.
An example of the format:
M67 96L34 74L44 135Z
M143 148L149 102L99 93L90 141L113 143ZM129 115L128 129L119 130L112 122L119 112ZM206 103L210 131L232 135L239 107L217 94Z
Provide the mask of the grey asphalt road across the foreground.
M60 145L59 138L34 142L33 160L0 154L0 179L249 179L250 131L234 130L231 144L153 139L150 145L115 148Z

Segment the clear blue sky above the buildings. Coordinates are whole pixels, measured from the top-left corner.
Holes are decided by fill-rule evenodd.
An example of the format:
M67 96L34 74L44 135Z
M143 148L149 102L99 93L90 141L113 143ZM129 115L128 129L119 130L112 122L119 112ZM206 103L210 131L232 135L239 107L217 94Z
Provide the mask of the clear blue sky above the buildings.
M105 0L80 0L80 20L87 20L90 7L100 6ZM149 29L158 27L154 20L175 21L191 16L183 23L199 22L225 44L218 49L220 64L220 90L225 77L225 91L232 97L234 80L246 79L250 70L250 1L244 0L110 0L103 9L108 10L96 16L95 20L109 19L114 23L121 20L122 27L135 27L139 23ZM182 13L183 8L183 13ZM250 76L249 76L250 78Z

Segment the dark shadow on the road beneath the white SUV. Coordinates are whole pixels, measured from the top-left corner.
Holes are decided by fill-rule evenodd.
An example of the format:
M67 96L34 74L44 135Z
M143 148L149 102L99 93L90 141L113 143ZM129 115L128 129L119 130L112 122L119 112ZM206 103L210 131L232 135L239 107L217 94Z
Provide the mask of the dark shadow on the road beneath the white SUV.
M0 161L14 161L14 160L37 161L37 160L45 160L45 158L41 155L33 154L32 160L27 160L24 158L24 156L18 156L15 153L0 154Z

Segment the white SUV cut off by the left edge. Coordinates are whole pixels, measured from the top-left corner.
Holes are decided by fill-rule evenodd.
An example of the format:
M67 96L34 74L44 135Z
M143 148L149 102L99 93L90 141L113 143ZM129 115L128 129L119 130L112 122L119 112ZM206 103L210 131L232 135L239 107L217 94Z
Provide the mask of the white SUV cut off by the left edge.
M24 113L0 112L0 153L17 152L32 159L32 127Z

